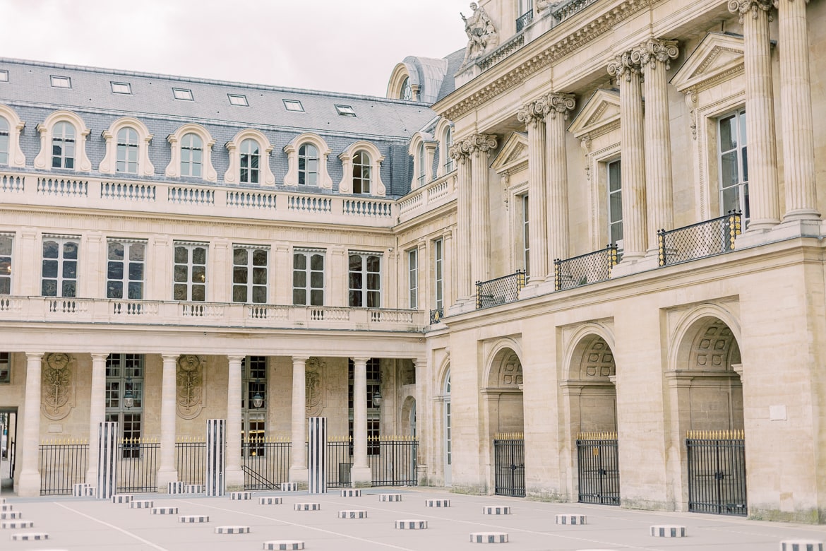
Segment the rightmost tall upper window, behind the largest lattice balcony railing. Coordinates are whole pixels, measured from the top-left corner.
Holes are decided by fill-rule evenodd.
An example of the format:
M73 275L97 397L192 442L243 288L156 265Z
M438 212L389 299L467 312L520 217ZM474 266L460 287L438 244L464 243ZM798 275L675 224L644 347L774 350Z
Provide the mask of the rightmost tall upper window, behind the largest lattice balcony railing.
M748 223L748 149L746 110L738 109L719 120L720 215L741 211Z

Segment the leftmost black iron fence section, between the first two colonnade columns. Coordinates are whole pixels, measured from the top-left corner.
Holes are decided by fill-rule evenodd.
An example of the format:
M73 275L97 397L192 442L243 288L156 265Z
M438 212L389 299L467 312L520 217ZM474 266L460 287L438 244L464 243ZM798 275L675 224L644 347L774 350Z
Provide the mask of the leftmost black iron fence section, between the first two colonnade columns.
M87 441L49 440L40 444L39 451L41 496L70 496L74 484L86 481Z

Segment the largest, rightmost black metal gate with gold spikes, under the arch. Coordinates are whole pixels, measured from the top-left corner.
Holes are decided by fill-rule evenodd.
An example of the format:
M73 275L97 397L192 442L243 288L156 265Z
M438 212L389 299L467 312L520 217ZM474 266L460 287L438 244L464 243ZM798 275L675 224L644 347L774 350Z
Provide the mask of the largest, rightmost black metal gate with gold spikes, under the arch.
M691 430L688 510L715 515L748 514L743 430Z

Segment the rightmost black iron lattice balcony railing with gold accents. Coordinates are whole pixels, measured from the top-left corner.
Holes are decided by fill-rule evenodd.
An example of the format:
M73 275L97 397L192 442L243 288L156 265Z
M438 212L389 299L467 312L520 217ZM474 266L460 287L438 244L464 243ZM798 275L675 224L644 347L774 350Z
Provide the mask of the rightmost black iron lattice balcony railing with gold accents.
M743 216L739 211L676 230L659 230L660 266L728 253L734 250L734 240L742 231Z

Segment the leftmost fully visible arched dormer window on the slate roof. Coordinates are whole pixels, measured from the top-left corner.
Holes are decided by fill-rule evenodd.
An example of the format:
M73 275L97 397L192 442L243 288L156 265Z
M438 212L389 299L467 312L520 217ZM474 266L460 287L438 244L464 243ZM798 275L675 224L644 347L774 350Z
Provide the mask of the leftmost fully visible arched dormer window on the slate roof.
M92 170L86 156L89 129L77 114L55 111L37 125L37 131L40 132L40 153L35 157L36 169Z

